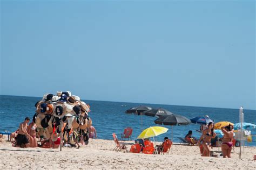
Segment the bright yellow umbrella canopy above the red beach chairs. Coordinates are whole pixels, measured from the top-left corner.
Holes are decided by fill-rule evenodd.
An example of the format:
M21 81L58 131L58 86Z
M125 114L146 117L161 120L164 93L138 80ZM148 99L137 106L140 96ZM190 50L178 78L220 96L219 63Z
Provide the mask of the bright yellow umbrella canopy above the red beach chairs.
M167 128L161 126L152 126L150 128L145 129L142 133L140 133L138 139L155 137L158 136L159 134L166 133L167 130Z

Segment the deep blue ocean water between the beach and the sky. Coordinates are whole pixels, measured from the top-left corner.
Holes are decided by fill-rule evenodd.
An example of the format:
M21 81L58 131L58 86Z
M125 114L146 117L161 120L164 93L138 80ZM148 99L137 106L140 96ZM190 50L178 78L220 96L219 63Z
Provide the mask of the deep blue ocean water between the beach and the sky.
M24 121L26 116L31 119L35 114L35 103L42 97L25 97L25 96L6 96L0 95L0 131L13 132L18 129L19 123ZM138 116L133 114L125 114L125 110L138 105L147 105L152 108L164 108L174 114L185 116L189 119L200 115L208 115L214 122L228 121L232 123L239 122L238 109L223 108L207 108L207 107L188 107L180 105L165 104L144 104L144 103L126 103L126 102L105 102L83 100L90 104L91 112L89 116L92 118L92 125L96 128L97 136L100 139L112 140L112 133L116 133L118 138L126 127L133 129L132 139L136 139L142 129L150 126L159 126L154 124L157 117ZM245 122L256 124L256 110L244 109ZM163 125L164 126L164 125ZM164 126L169 130L165 134L156 137L155 140L162 141L165 136L171 138L171 126ZM187 126L173 126L173 141L181 142L179 137L184 137L189 130L193 131L196 138L200 137L200 125L190 124ZM256 129L251 131L256 134ZM251 143L245 143L246 146L256 146L256 136L253 136Z

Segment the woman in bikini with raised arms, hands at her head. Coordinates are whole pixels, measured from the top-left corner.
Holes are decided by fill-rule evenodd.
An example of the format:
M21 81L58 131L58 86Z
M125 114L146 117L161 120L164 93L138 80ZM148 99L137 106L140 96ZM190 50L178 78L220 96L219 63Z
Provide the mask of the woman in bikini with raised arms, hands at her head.
M224 133L223 143L221 145L221 151L223 153L223 158L231 158L231 150L233 146L233 135L234 129L231 124L228 126L221 127L221 131Z

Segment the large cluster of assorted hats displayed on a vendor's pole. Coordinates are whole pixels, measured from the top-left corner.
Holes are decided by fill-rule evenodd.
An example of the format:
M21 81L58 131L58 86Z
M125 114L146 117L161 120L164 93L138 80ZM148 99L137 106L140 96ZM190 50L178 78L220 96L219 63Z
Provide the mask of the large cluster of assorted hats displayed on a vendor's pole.
M63 127L65 141L75 143L83 136L85 144L88 144L87 128L92 125L88 115L90 105L81 101L80 97L71 95L70 91L57 91L56 95L46 93L35 107L33 122L36 123L40 136L56 141ZM70 133L71 130L73 133Z

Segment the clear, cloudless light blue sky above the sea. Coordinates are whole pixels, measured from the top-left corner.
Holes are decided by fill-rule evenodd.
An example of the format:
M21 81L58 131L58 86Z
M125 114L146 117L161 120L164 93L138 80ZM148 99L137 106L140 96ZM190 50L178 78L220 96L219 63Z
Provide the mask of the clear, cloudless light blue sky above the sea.
M255 1L1 1L2 95L256 109Z

